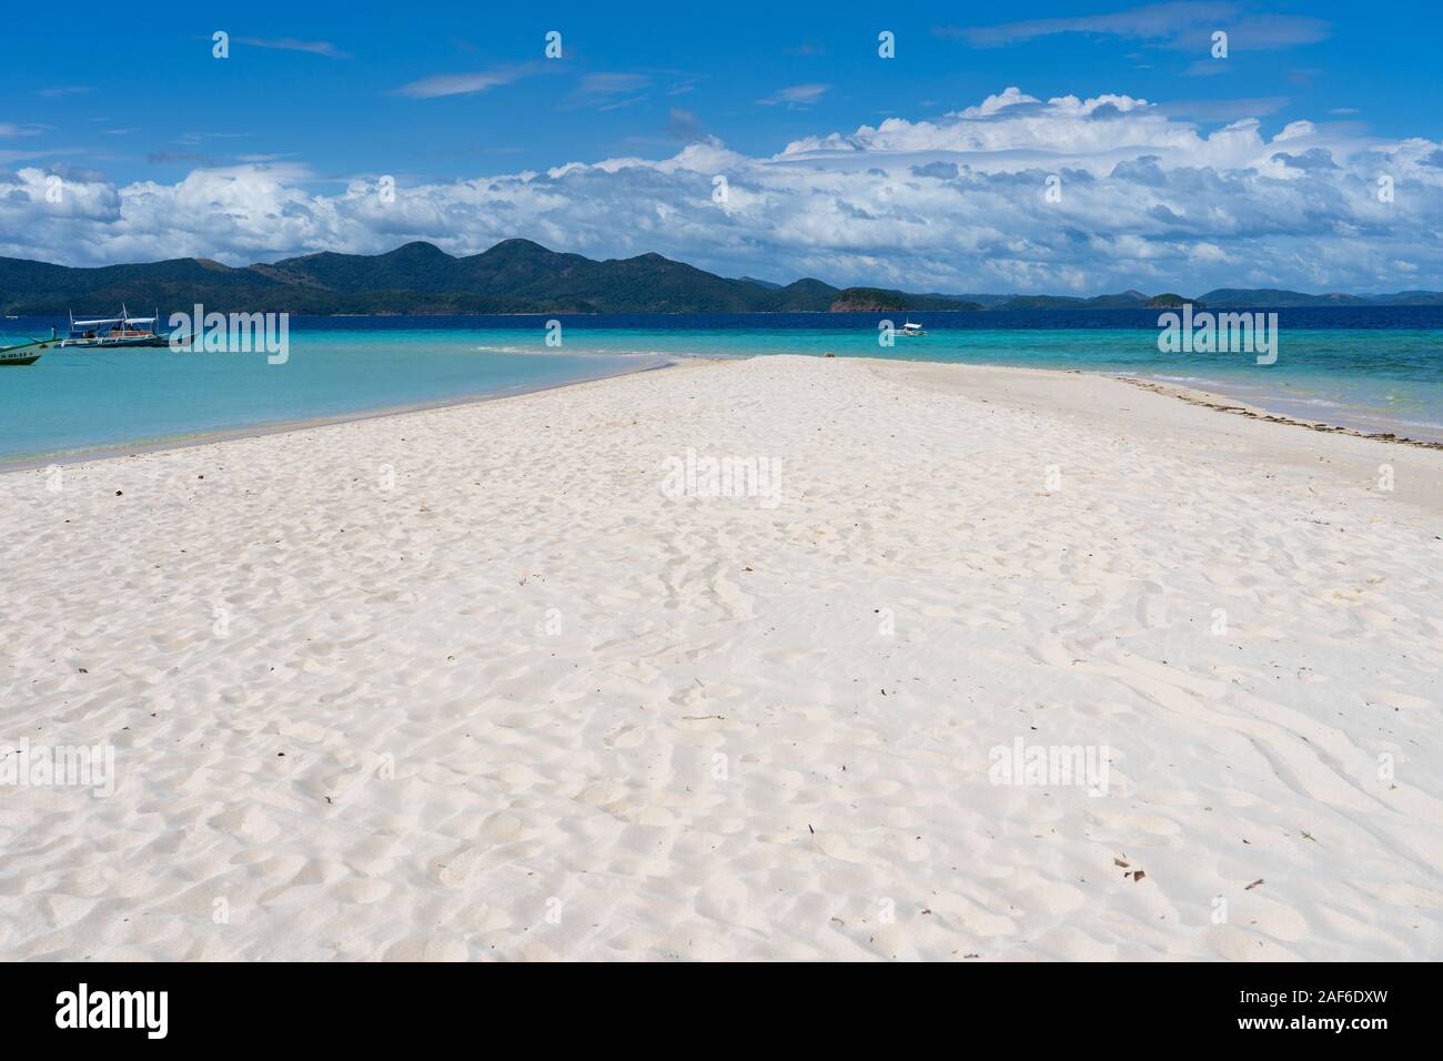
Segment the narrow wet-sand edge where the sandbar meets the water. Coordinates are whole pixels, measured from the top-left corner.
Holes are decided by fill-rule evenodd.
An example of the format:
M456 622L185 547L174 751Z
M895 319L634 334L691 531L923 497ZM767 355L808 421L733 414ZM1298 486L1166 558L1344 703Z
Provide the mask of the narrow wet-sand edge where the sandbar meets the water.
M724 362L749 361L753 358L771 358L771 357L814 358L818 355L753 354L747 357L716 358L706 355L658 354L657 357L662 358L661 364L645 365L641 368L625 368L615 372L603 372L599 375L589 375L577 380L569 380L566 383L544 384L540 387L521 387L521 388L502 390L488 394L472 393L450 398L437 398L434 401L417 401L400 406L381 406L377 409L356 410L354 413L307 417L303 420L281 420L276 423L227 427L212 432L202 432L198 435L170 436L162 439L140 439L136 442L120 442L114 445L104 445L78 450L55 450L51 453L42 452L14 459L0 458L0 475L7 475L10 472L35 471L38 468L48 468L51 465L74 466L74 465L94 463L100 460L118 460L124 458L144 456L147 453L162 453L173 449L190 449L196 446L209 446L222 442L266 437L268 435L289 435L293 432L304 432L316 427L330 427L335 424L355 423L359 420L384 419L391 416L408 416L413 413L426 413L430 410L450 409L455 406L479 406L491 401L499 401L504 398L517 398L517 397L524 397L527 394L540 394L551 390L563 390L567 387L577 387L582 384L599 383L603 380L618 380L664 368L677 368L685 364L724 364ZM825 359L827 357L830 355L824 355L821 359ZM909 358L903 359L903 358L874 358L874 357L851 357L851 355L835 359L866 361L879 365L931 365L939 368L960 368L964 371L983 371L983 372L987 371L1026 372L1026 374L1035 374L1039 378L1049 375L1068 375L1068 377L1084 377L1091 380L1111 380L1115 383L1127 384L1130 387L1136 387L1143 391L1166 396L1199 409L1206 409L1216 413L1229 413L1232 416L1241 416L1250 420L1283 424L1289 427L1302 427L1306 430L1319 432L1325 435L1339 435L1345 437L1365 439L1369 442L1381 442L1397 446L1413 446L1417 449L1443 450L1443 442L1434 442L1431 439L1414 439L1407 435L1400 435L1395 432L1367 432L1367 430L1359 430L1356 427L1332 424L1328 423L1326 420L1304 420L1300 417L1289 416L1286 413L1277 413L1261 406L1248 404L1245 401L1235 400L1218 391L1209 391L1199 387L1188 387L1183 384L1166 383L1162 380L1153 380L1139 375L1121 375L1110 371L1089 371L1085 368L1049 368L1042 365L967 364L957 361L913 361Z

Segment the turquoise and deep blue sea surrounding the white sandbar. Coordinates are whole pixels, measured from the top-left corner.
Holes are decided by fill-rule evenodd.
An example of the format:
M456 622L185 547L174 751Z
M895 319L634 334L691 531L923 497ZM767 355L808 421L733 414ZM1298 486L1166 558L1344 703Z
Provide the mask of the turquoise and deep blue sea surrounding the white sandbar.
M264 352L49 349L35 365L0 367L0 463L518 394L681 358L775 354L1130 375L1443 442L1443 306L1248 312L1277 313L1271 364L1248 352L1163 352L1156 309L293 316L284 364ZM926 335L883 345L883 320ZM65 325L4 319L0 346Z

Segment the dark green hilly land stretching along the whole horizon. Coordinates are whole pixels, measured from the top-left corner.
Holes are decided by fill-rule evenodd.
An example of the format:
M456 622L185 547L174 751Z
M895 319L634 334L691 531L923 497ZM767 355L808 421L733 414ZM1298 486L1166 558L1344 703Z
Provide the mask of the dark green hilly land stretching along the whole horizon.
M1189 299L1149 296L916 294L890 287L834 287L802 279L778 284L729 279L659 254L596 261L504 240L455 257L429 243L385 254L306 254L241 268L206 258L72 268L0 258L0 312L65 315L131 309L162 312L202 303L208 310L316 315L433 313L786 313L906 310L1163 309L1193 306L1439 306L1443 292L1306 294L1219 287Z

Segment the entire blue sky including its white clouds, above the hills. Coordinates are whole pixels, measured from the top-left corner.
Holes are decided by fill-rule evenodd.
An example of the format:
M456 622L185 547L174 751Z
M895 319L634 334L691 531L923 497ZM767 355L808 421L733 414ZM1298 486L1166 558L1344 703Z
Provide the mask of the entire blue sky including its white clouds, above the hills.
M1439 228L1443 178L1431 4L147 7L7 14L0 254L240 264L527 235L913 289L1443 286L1416 231ZM1225 149L1238 121L1248 143ZM709 212L719 175L734 193ZM1049 175L1062 201L1039 206ZM65 201L36 201L52 176ZM382 176L398 204L372 211Z

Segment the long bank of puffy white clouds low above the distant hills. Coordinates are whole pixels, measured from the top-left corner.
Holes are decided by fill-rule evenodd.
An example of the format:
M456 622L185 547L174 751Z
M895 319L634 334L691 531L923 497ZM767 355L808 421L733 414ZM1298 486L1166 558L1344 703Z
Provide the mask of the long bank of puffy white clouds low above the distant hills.
M694 115L672 120L690 128ZM942 118L889 118L769 156L707 137L664 159L403 180L394 201L374 178L336 188L267 163L120 188L71 172L55 204L53 172L30 166L0 172L0 254L242 264L407 240L469 254L527 237L592 257L658 251L727 276L912 290L1443 287L1440 159L1443 143L1354 126L1293 121L1266 136L1255 115L1205 128L1130 95L1006 88ZM727 179L722 202L714 176Z

